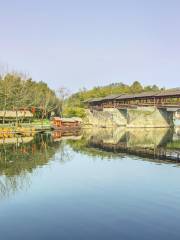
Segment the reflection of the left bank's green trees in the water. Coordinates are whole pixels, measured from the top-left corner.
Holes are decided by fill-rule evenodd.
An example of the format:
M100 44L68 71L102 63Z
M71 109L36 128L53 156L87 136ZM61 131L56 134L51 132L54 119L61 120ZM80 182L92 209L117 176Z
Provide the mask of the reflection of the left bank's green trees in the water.
M48 164L56 152L61 163L70 160L65 144L54 142L51 133L1 141L0 199L29 188L33 170Z

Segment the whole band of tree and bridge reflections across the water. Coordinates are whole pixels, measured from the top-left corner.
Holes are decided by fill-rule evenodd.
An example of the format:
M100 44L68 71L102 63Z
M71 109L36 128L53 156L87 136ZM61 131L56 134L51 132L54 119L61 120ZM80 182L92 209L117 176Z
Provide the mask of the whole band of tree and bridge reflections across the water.
M84 129L82 132L49 132L29 137L0 139L0 198L31 185L34 170L54 158L64 164L74 151L86 155L120 159L125 154L148 161L180 161L180 128L176 129Z

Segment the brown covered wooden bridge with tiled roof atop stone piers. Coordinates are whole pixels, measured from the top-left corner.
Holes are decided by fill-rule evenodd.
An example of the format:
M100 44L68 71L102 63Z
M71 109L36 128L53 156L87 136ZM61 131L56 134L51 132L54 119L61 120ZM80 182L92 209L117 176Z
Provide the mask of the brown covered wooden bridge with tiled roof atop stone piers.
M138 94L114 94L104 98L94 98L86 101L88 108L103 110L103 108L136 108L156 106L170 111L180 109L180 88L158 92L143 92Z

